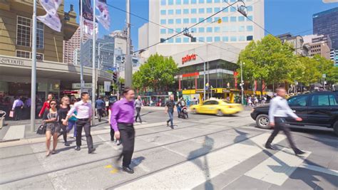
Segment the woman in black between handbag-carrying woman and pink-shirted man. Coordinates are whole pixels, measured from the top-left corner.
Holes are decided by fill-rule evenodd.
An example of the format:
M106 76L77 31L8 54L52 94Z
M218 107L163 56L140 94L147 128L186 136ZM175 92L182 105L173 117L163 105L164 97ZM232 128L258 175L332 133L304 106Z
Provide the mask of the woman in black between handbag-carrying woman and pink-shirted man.
M62 129L62 132L58 134L58 137L63 135L63 141L65 142L65 146L69 147L69 143L67 141L67 133L68 131L68 125L63 125L63 121L66 119L68 111L71 109L69 106L69 97L65 96L61 98L61 105L60 108L58 108L58 116L59 116L59 122L60 122L60 128Z

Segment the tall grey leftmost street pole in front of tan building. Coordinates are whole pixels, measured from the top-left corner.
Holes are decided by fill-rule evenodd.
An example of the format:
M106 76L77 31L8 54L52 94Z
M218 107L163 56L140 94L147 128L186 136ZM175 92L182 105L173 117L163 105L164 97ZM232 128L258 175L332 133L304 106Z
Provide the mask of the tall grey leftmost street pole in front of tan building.
M31 39L31 132L35 130L36 109L36 0L33 1L33 28Z

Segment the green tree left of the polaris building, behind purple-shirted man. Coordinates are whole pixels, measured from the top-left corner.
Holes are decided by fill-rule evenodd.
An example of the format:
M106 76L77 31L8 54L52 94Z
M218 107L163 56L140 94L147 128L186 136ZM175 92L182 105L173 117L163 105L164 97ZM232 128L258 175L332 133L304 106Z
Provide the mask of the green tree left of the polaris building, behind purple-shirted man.
M168 90L175 83L177 72L178 67L173 58L165 58L156 53L133 74L133 87L139 90Z

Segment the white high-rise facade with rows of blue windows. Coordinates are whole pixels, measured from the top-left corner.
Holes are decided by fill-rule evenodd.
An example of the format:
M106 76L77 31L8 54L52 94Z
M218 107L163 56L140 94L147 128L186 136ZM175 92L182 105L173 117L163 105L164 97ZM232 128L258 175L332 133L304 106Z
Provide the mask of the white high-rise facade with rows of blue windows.
M185 28L203 21L212 14L221 11L212 18L190 28L188 32L196 38L196 42L183 34L149 48L143 53L147 57L154 53L171 56L191 48L204 46L205 43L224 42L232 46L244 48L252 40L264 37L264 0L245 0L247 18L237 11L242 5L237 0L149 0L149 20L159 23L145 23L139 28L139 49L147 48L162 39L167 39ZM225 9L229 6L227 9ZM252 19L260 26L255 25ZM220 22L221 21L221 22Z

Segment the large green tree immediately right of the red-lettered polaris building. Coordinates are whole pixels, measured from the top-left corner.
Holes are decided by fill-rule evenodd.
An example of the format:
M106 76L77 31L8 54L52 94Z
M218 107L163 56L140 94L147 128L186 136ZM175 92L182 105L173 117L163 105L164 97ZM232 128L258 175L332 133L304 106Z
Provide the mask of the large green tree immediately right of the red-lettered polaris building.
M282 43L279 38L267 35L261 41L251 41L241 51L238 63L243 65L245 80L260 80L272 84L285 82L292 63L297 61L289 43ZM240 70L239 70L240 72Z

